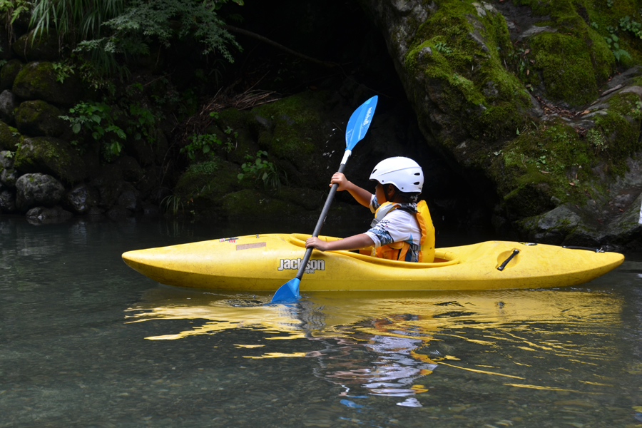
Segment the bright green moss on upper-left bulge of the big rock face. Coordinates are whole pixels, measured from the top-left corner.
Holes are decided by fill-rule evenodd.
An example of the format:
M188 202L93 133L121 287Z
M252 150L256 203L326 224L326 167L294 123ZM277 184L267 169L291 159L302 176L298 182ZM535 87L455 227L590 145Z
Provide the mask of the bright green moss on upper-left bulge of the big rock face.
M412 75L438 88L444 113L461 117L449 131L466 133L484 146L513 135L531 107L524 84L504 66L503 55L512 49L499 12L445 0L419 26L404 61Z

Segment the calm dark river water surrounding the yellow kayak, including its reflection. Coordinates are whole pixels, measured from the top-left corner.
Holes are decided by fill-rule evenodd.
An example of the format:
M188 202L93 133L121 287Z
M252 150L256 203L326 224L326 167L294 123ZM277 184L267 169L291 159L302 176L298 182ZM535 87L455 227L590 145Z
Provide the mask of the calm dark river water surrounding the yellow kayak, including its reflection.
M1 218L0 427L642 426L636 255L574 288L275 307L120 258L280 227Z

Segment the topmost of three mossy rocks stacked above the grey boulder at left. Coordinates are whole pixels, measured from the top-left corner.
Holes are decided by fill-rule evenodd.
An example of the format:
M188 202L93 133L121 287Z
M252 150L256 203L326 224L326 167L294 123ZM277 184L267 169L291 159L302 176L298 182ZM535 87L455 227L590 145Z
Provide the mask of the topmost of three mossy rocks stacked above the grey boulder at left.
M31 62L26 64L14 81L13 92L26 100L44 100L60 106L73 106L83 90L75 75L63 83L56 81L54 66L50 62Z

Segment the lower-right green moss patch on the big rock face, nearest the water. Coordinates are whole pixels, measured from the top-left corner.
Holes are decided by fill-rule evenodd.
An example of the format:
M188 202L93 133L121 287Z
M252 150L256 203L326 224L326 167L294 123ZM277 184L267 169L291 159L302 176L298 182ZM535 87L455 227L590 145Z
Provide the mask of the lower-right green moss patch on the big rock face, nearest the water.
M553 126L532 127L508 143L491 167L506 206L525 217L551 208L546 195L562 203L583 203L586 193L606 192L593 168L614 178L626 171L627 158L642 148L638 100L635 93L612 96L610 108L596 115L596 126L584 138L558 120Z

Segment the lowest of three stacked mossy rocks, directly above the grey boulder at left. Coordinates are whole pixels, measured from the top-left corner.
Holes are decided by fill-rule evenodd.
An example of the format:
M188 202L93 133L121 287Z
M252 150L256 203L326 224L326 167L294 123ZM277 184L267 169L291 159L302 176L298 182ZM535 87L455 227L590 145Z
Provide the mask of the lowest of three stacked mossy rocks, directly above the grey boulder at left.
M59 138L24 138L16 153L14 168L21 173L47 173L66 183L78 183L86 177L86 168L78 151Z

